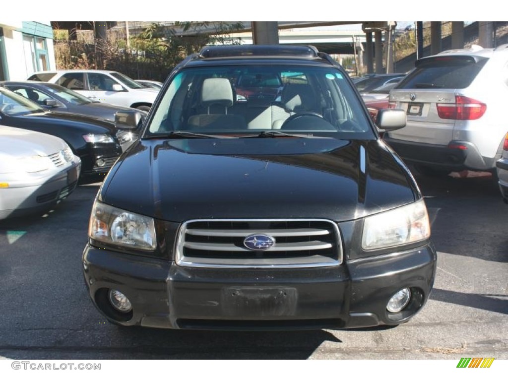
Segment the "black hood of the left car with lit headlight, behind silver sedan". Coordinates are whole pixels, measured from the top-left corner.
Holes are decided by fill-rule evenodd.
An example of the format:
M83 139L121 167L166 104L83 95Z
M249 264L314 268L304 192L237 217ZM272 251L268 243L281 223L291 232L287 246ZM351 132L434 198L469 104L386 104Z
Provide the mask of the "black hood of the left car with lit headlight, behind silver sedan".
M10 119L20 125L26 125L26 123L37 123L39 125L72 125L74 129L81 129L84 133L116 134L113 122L89 115L51 111L13 116L10 117Z

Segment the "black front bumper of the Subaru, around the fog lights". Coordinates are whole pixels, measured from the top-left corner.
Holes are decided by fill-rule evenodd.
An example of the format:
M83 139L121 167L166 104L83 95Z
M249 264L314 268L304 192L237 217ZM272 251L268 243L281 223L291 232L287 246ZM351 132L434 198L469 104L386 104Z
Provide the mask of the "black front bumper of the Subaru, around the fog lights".
M397 325L428 299L436 252L419 248L297 269L189 268L168 260L132 256L89 244L84 278L96 307L114 323L173 329L321 329ZM399 313L386 309L400 289L412 298ZM118 317L107 290L132 303ZM112 312L113 311L113 312Z

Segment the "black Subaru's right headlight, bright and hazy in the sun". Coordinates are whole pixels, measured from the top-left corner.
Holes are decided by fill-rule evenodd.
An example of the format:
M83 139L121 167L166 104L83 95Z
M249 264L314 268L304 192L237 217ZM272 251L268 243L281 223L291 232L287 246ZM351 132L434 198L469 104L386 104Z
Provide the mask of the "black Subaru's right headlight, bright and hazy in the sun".
M380 249L430 237L429 216L422 200L365 218L362 247Z

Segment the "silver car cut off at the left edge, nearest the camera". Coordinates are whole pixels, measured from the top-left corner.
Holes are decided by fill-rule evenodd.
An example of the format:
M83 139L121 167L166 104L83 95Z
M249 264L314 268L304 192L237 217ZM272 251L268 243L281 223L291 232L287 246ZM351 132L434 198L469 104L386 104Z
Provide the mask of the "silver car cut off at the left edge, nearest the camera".
M73 192L80 169L62 139L0 125L0 219L49 210Z

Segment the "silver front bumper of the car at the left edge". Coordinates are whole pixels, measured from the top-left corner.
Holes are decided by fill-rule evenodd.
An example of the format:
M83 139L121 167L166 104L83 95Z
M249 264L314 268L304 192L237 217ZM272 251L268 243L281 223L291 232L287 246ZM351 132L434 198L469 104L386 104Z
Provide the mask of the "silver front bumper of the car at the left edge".
M0 189L0 219L19 217L59 203L69 196L77 185L81 160L74 156L69 167L49 177L41 177L25 183L11 183Z

